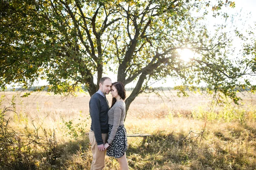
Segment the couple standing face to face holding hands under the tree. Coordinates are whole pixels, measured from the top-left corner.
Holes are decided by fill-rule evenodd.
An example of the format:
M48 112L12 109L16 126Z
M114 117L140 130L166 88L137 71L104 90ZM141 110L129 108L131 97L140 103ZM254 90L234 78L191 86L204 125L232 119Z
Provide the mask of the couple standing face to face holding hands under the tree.
M111 108L105 96L109 92L113 96ZM102 170L105 167L105 153L117 158L121 170L129 169L125 154L127 150L124 127L125 97L125 86L122 82L112 83L108 77L99 80L99 91L91 96L89 102L92 119L89 132L93 153L91 170Z

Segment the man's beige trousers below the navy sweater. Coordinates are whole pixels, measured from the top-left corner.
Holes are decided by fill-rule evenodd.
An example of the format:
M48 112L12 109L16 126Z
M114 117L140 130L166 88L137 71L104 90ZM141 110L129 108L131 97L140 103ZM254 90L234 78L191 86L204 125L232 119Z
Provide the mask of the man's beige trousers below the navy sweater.
M93 161L90 170L103 170L105 167L105 151L99 151L98 145L92 130L89 132L89 140L92 146ZM103 144L108 140L108 133L102 133Z

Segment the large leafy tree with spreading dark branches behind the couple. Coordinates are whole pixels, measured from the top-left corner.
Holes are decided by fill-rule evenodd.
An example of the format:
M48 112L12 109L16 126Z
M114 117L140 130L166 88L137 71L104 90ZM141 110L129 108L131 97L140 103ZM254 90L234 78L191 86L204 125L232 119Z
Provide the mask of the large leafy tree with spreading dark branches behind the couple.
M228 0L215 3L215 17L228 17L219 10L234 7ZM47 79L55 94L85 85L92 95L104 71L111 70L125 85L136 82L125 101L128 110L136 96L153 91L149 82L167 76L183 80L181 91L205 82L208 92L237 102L234 89L245 87L238 80L255 74L255 62L230 59L232 39L223 26L209 34L208 1L2 0L0 5L1 88L11 83L28 88ZM197 54L189 62L177 52L185 48Z

